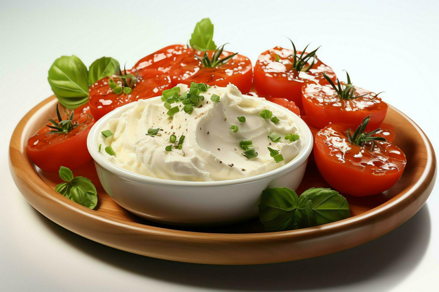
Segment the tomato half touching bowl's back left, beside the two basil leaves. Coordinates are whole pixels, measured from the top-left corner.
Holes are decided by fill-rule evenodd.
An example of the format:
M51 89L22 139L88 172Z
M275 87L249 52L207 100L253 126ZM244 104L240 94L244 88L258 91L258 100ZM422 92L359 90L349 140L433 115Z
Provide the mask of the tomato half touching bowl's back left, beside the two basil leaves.
M169 76L161 71L144 68L133 72L133 74L136 73L139 75L141 73L141 76L137 78L130 94L124 92L116 94L108 84L110 77L96 81L90 86L90 111L96 120L99 120L102 116L119 106L126 105L138 99L148 99L161 95L163 90L171 87ZM116 83L122 82L119 78L113 78L113 80Z

